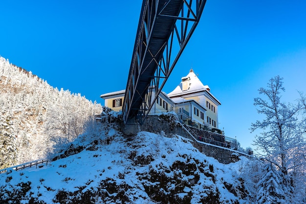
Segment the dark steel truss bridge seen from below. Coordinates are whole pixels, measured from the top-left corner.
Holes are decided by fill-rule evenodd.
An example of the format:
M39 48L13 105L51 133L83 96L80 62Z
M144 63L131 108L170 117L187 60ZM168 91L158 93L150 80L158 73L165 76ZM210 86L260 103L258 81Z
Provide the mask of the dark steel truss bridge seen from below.
M206 0L144 0L123 103L140 125L197 27ZM134 124L134 123L132 123Z

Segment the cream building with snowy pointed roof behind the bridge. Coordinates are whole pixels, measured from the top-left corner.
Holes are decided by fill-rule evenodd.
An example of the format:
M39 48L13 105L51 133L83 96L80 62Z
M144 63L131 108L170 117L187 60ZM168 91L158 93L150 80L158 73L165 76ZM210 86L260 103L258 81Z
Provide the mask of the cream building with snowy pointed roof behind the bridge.
M150 114L175 112L186 124L219 129L219 100L203 85L191 69L181 78L180 84L170 93L162 92L157 97ZM114 111L122 110L125 90L102 94L105 106Z

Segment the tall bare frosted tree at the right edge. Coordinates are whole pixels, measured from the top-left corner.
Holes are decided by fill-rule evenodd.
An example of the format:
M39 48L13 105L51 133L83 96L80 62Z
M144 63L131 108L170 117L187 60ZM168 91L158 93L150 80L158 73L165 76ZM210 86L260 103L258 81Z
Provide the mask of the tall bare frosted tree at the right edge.
M280 170L284 176L283 184L291 188L285 193L292 196L293 188L297 187L295 183L299 180L296 175L301 175L296 171L306 167L306 142L304 133L299 129L301 105L282 102L281 91L284 91L284 87L280 76L270 79L267 89L259 89L265 98L255 98L254 105L259 107L258 113L265 117L252 123L251 131L262 130L254 140L258 154Z

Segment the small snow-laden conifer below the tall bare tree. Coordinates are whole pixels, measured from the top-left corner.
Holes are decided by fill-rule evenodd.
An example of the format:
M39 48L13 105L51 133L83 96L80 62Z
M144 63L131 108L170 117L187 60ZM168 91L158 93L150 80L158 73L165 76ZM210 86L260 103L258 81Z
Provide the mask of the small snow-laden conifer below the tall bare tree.
M278 172L270 162L263 171L263 177L257 184L257 204L287 204L289 199L285 195L286 187L279 174L281 172Z

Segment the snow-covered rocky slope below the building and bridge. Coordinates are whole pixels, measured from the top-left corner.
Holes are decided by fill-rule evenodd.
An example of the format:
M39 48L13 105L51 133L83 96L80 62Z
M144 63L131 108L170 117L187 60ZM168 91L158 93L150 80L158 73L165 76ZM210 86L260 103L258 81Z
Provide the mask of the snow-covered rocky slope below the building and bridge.
M107 116L111 123L95 123L46 166L0 174L0 203L248 203L231 170L238 163L206 157L181 136L125 136Z

